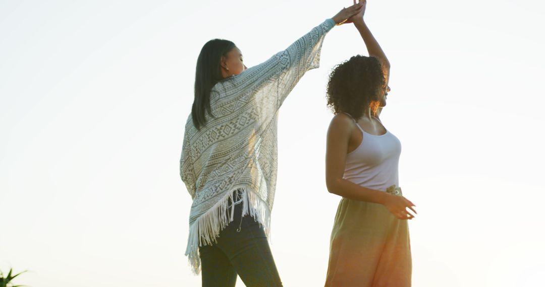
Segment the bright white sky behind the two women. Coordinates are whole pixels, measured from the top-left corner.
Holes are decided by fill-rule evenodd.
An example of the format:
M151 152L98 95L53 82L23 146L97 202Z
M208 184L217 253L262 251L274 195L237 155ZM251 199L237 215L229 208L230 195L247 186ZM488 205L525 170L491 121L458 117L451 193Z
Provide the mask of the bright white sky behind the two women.
M200 286L178 176L197 55L256 65L351 1L0 2L0 269L41 287ZM414 286L545 278L545 4L369 0L392 64L381 118L403 145ZM339 197L325 188L331 68L352 25L284 103L272 251L284 286L322 286ZM243 284L240 284L241 286Z

